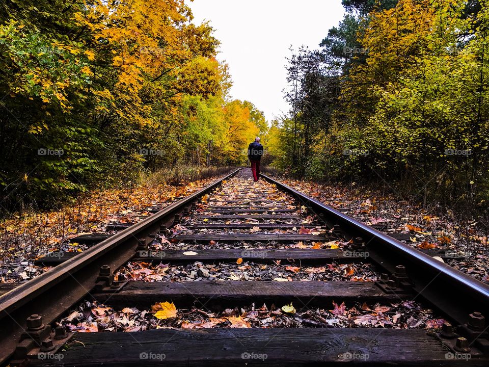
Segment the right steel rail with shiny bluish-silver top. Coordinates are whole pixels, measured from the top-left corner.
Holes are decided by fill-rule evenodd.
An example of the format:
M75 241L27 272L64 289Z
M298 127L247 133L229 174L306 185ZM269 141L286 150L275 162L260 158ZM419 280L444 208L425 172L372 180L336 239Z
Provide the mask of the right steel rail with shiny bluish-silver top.
M261 176L309 206L330 228L339 224L347 239L361 237L369 257L390 273L394 273L397 265L404 265L413 283L415 299L426 299L460 325L467 324L469 313L489 309L489 285L280 181Z

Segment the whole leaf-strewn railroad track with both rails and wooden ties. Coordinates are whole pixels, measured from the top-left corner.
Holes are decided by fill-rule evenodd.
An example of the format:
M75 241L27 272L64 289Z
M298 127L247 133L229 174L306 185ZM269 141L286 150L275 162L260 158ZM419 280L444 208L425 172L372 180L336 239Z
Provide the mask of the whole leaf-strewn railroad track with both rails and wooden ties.
M237 170L137 224L112 224L115 234L76 239L96 243L83 253L40 259L54 268L0 296L0 360L487 365L487 285L433 257L443 251L418 251L267 176L249 176ZM166 268L128 280L141 264ZM68 314L82 300L146 309L152 322L133 332L71 332ZM186 310L179 319L199 318L157 320L151 306L162 302ZM393 304L398 313L386 317ZM414 304L424 321L392 322Z

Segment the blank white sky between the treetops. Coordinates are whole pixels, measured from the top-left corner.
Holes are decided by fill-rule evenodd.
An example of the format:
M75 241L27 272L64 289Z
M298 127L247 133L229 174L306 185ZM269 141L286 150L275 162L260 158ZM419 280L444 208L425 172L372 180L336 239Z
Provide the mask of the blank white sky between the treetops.
M343 19L341 0L194 0L194 22L210 20L229 64L231 96L249 100L267 120L288 112L283 98L289 46L318 48Z

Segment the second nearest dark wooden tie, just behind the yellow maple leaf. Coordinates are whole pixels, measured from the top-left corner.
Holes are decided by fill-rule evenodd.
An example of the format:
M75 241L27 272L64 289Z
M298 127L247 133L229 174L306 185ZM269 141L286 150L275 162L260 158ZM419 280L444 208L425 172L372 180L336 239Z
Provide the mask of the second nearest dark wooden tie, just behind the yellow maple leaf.
M355 303L399 302L412 295L388 294L373 282L354 281L235 281L202 280L188 282L131 281L117 293L91 294L100 303L113 307L149 307L156 302L189 304L196 300L219 306L236 307L246 303L286 304L296 309L331 305L332 301ZM210 307L210 305L208 305Z

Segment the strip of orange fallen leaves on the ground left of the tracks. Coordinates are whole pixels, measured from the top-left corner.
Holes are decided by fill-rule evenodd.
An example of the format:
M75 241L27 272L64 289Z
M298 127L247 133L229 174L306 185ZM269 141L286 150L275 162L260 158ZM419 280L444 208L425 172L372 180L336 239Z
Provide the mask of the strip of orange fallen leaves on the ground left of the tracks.
M180 186L138 186L103 190L80 198L59 211L26 213L0 222L0 282L21 282L49 268L34 266L53 251L82 252L86 246L69 243L85 233L107 233L108 223L135 223L146 218L148 207L165 207L209 185L216 177ZM113 232L108 232L113 233Z

